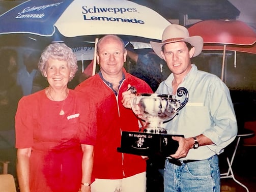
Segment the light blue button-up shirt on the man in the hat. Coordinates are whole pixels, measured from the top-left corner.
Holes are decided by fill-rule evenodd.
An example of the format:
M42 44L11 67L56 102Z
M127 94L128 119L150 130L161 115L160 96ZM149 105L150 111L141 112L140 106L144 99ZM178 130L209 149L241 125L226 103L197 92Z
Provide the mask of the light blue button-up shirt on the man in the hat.
M161 82L156 93L173 94L173 79L173 74L170 74ZM237 135L229 88L217 76L199 71L193 64L179 87L188 90L188 103L179 111L179 115L163 123L163 126L168 134L184 135L185 138L203 134L214 143L190 149L182 159L207 159L221 153Z

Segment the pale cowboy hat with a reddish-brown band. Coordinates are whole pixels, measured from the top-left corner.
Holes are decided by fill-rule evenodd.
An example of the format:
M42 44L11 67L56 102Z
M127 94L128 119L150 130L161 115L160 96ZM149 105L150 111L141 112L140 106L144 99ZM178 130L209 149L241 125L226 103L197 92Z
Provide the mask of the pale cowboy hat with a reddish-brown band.
M151 47L154 52L160 57L162 46L167 43L175 43L179 41L184 41L191 44L195 48L193 57L199 55L202 52L204 40L201 36L189 37L188 29L182 25L171 24L167 26L162 35L162 43L150 42Z

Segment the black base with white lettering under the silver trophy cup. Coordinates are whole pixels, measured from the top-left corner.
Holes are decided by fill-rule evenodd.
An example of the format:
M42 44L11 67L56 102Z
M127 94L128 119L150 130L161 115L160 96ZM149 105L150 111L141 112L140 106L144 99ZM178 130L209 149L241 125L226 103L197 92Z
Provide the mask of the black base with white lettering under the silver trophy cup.
M178 147L178 141L172 136L184 137L184 135L153 134L143 132L122 132L121 147L118 152L142 156L174 154Z

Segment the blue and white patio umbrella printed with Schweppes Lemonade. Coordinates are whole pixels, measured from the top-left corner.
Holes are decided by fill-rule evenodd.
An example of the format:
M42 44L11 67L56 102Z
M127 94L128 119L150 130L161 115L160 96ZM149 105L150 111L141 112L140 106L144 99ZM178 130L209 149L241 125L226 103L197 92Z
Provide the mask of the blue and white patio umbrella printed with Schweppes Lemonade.
M125 0L31 0L1 15L0 23L0 34L60 33L66 38L116 34L148 42L161 40L171 24L154 10Z

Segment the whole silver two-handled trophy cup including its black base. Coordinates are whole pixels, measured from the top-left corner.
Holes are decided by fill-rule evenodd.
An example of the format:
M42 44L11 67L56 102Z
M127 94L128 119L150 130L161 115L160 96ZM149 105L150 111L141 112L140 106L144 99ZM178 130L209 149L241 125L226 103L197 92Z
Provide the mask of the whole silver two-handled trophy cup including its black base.
M135 87L129 89L136 94ZM170 94L136 94L131 100L131 108L137 117L145 121L145 125L138 132L123 131L121 146L117 150L144 156L174 154L179 143L173 140L172 136L184 136L167 134L167 130L162 125L163 122L172 120L178 115L179 110L188 102L186 88L178 88L177 95L183 99L183 102Z

